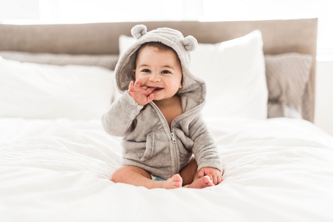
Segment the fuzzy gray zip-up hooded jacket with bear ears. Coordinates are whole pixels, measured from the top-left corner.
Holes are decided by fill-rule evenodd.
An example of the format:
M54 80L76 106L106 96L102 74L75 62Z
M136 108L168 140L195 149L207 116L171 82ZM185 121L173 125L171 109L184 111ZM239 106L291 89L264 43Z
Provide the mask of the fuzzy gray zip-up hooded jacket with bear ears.
M123 136L123 165L138 166L163 179L186 166L192 153L202 167L221 169L221 160L211 132L200 111L205 104L205 81L189 71L190 51L197 47L193 36L184 36L170 28L147 32L145 25L131 30L137 41L121 55L115 68L115 85L122 94L102 116L104 130L113 136ZM161 42L177 53L183 74L178 90L183 113L171 122L154 101L140 106L128 94L131 80L135 82L135 52L145 42Z

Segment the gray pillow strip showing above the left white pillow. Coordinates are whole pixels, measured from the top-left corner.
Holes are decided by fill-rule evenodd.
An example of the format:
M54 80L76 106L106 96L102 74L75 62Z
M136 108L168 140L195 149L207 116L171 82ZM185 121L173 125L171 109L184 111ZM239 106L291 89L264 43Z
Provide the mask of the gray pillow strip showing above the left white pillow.
M31 53L18 51L0 51L4 59L20 62L41 63L51 65L85 65L101 66L114 70L119 55L88 55L88 54L54 54L54 53Z

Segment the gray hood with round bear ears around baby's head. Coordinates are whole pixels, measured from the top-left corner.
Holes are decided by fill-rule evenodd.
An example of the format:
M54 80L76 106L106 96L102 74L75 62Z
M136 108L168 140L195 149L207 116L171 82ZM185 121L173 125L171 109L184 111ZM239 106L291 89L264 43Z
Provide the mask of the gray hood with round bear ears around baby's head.
M193 36L186 36L184 38L181 32L171 28L158 28L147 32L145 25L134 26L131 29L131 34L137 41L120 56L115 68L115 85L119 93L122 94L125 90L128 90L131 80L135 82L133 76L133 70L136 68L135 52L143 43L161 42L171 47L177 53L180 60L183 80L182 88L180 88L177 93L180 97L185 96L190 99L191 104L194 106L205 101L205 81L193 75L189 70L191 59L190 52L195 50L198 46L198 42ZM184 106L183 104L183 107Z

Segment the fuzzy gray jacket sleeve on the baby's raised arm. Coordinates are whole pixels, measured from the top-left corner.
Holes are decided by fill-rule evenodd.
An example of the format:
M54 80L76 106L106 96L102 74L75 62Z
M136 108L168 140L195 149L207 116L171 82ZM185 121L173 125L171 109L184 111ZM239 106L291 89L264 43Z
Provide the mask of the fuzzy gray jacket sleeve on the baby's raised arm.
M125 136L143 107L137 104L125 90L123 95L102 115L103 129L113 136Z

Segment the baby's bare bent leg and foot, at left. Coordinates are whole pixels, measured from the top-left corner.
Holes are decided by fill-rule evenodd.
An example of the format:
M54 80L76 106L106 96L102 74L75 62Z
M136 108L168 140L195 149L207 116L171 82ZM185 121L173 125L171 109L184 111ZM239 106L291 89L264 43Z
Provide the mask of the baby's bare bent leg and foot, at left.
M115 183L127 183L135 186L152 188L177 188L181 187L182 179L179 174L174 174L166 181L155 181L149 172L137 166L119 167L113 174L112 179Z

